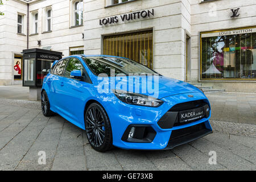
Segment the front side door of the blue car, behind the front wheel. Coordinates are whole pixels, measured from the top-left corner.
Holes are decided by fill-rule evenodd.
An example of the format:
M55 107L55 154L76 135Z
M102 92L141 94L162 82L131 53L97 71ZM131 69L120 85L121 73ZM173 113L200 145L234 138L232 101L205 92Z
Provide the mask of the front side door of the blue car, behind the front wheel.
M71 78L72 71L80 70L82 79ZM86 99L92 95L92 82L81 61L75 57L69 58L64 71L63 107L68 117L79 126L84 126L84 106Z

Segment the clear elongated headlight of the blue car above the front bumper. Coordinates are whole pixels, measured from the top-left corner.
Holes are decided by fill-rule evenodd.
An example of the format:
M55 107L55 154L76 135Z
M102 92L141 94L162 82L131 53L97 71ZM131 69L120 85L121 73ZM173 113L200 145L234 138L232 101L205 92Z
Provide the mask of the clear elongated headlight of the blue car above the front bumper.
M149 107L158 107L163 104L163 101L157 98L145 96L138 93L131 93L123 90L113 90L113 93L115 94L115 96L117 96L117 98L119 98L119 100L125 102L126 104Z

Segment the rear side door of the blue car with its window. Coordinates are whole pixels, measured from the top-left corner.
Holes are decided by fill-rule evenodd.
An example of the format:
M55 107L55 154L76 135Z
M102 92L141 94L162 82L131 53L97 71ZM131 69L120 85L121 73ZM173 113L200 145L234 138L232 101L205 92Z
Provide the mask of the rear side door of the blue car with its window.
M59 112L63 112L63 104L61 102L61 98L63 97L63 72L65 66L67 65L68 59L64 59L57 63L51 77L51 107L58 110Z

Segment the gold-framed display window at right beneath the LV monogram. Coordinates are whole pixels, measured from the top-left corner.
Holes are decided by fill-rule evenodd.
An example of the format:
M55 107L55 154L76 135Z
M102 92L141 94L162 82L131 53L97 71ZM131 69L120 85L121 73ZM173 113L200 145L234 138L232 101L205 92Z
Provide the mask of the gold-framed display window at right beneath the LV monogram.
M201 79L256 80L256 28L201 33Z

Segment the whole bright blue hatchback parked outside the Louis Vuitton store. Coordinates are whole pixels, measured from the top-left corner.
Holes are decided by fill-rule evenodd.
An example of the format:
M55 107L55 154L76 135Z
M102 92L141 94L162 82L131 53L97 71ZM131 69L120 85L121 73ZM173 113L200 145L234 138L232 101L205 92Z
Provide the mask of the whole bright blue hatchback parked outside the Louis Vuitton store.
M42 112L85 130L101 152L167 150L212 133L210 103L199 88L124 57L55 61L43 80Z

